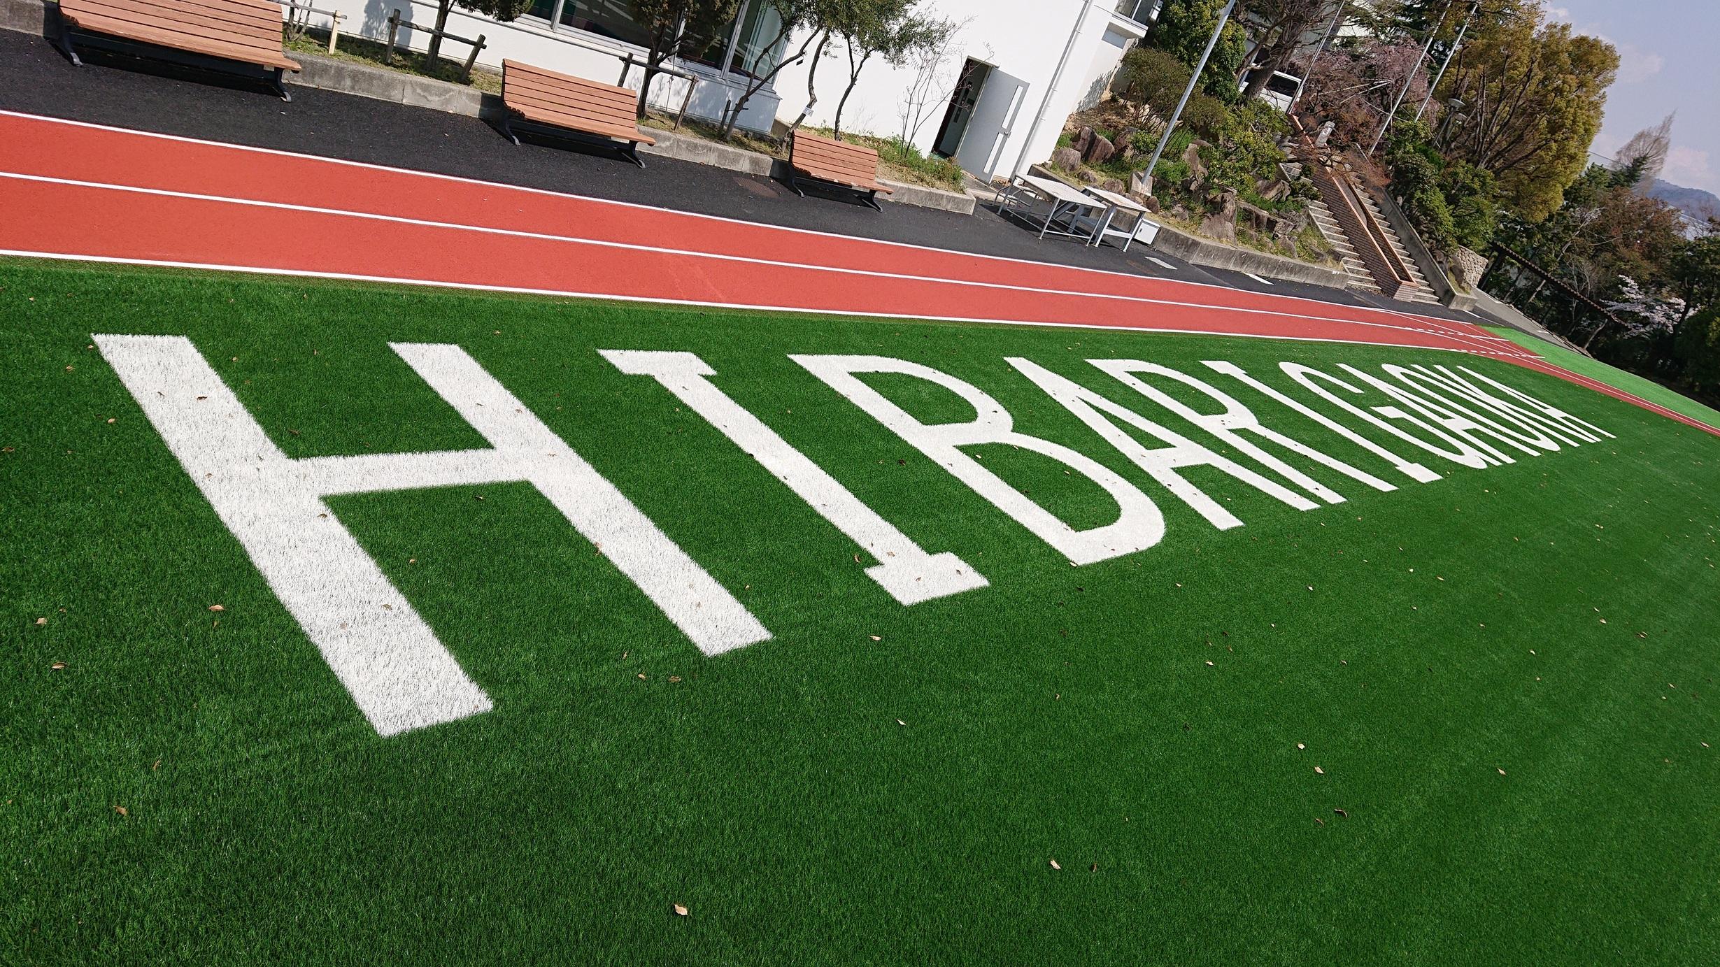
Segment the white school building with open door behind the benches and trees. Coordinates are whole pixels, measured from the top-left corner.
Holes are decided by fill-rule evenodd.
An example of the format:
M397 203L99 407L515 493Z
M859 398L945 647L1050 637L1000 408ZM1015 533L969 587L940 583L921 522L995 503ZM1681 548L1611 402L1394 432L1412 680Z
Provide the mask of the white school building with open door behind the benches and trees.
M903 105L918 71L874 57L843 108L843 129L906 134L922 151L956 158L982 179L1025 170L1051 155L1072 112L1099 102L1123 52L1146 36L1158 3L922 0L920 12L961 24L931 77L932 96L917 119L905 120ZM413 24L435 24L435 3L423 0L318 0L316 5L341 10L346 14L342 33L366 38L385 38L389 14L396 9ZM523 17L506 24L456 7L445 29L466 38L483 34L478 64L488 67L499 69L504 59L523 60L631 88L643 74L647 36L633 22L628 0L537 0ZM791 36L760 57L760 45L771 43L777 29L776 10L767 0L745 0L726 33L709 38L698 57L674 62L697 77L691 98L686 96L688 81L657 77L652 103L676 112L685 102L690 117L721 119L745 91L745 71L764 74L788 52L800 50L805 36ZM430 40L423 31L402 31L401 36L415 50L423 50ZM461 60L468 48L445 43L444 52ZM784 67L772 84L753 95L740 126L767 132L774 122L798 117L808 100L810 60L808 53ZM848 83L846 64L846 48L832 40L815 74L819 102L808 115L810 124L831 124Z

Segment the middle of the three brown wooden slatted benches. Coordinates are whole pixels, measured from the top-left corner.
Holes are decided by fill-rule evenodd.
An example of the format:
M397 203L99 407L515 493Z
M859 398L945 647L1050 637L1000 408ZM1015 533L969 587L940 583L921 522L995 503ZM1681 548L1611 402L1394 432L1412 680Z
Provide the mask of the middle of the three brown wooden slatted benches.
M514 145L514 126L528 124L550 134L574 131L621 143L621 153L638 167L640 145L657 139L640 131L638 91L557 74L518 60L502 60L502 134ZM519 119L514 119L519 115Z

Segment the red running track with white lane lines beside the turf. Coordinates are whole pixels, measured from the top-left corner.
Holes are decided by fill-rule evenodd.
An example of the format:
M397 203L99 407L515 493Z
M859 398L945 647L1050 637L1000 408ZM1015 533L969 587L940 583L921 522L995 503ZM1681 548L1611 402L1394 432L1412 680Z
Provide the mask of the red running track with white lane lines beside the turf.
M0 251L789 311L1416 346L1476 325L0 112ZM458 262L444 256L461 251Z

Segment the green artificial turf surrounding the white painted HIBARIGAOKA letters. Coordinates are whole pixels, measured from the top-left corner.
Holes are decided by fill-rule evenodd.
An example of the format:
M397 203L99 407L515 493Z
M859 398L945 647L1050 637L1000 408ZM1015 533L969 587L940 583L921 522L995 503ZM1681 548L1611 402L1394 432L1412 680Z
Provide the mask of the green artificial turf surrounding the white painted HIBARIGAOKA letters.
M494 702L378 735L93 334L189 337L291 458L483 447L389 348L458 344L771 640L702 654L530 484L329 497ZM1398 348L19 260L0 341L5 962L1720 957L1720 439L1588 389ZM600 349L697 353L989 587L898 604L853 540ZM1164 537L1072 566L789 354L963 379L1140 487ZM1218 530L1010 356L1283 480L1085 360L1201 375L1397 489L1273 451L1347 497L1297 511L1185 470L1245 523ZM1283 360L1464 365L1613 439L1457 466ZM974 418L922 380L865 382L922 422ZM1073 528L1118 516L1060 463L967 451Z

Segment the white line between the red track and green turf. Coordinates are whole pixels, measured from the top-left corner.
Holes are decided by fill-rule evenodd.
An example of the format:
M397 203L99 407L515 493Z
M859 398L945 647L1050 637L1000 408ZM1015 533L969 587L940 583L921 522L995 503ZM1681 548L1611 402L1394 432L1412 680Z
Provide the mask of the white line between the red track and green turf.
M339 279L346 282L387 282L397 286L425 286L432 289L463 289L475 293L516 293L525 296L561 296L569 299L607 299L616 303L660 303L676 306L698 306L698 308L717 308L717 310L745 310L745 311L783 311L783 313L800 313L800 315L839 315L839 317L857 317L857 318L900 318L900 320L922 320L922 322L977 322L986 325L1032 325L1042 329L1106 329L1115 332L1164 332L1171 336L1213 336L1218 339L1287 339L1292 342L1330 342L1333 346L1383 346L1386 349L1428 349L1434 353L1462 353L1465 356L1495 356L1510 358L1510 353L1491 353L1488 349L1462 349L1457 346L1416 346L1410 342L1376 342L1371 339L1326 339L1321 336L1281 336L1269 332L1211 332L1206 329L1142 329L1139 325L1116 325L1104 322L1025 322L1017 318L992 318L977 315L925 315L925 313L889 313L889 311L863 311L863 310L807 310L795 306L769 306L753 303L717 303L707 299L676 299L676 298L659 298L659 296L614 296L605 293L588 293L581 289L537 289L530 286L485 286L482 282L445 282L437 279L411 279L404 275L359 275L354 272L318 272L306 268L272 268L265 265L222 265L215 262L175 262L167 258L114 258L105 255L84 255L84 253L67 253L67 251L31 251L21 248L0 248L0 255L10 255L17 258L57 258L65 262L101 262L114 265L153 265L158 268L203 268L210 272L244 272L255 275L284 275L294 279ZM1536 360L1538 356L1519 356L1524 360Z

